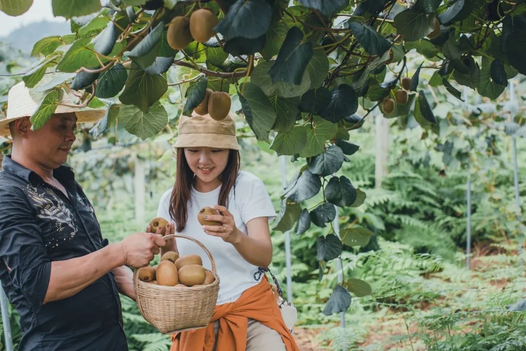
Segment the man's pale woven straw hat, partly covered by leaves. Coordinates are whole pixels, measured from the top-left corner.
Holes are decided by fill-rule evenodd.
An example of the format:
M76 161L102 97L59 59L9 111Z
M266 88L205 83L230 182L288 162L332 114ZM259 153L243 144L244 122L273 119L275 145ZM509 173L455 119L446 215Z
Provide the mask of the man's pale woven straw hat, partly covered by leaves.
M67 94L64 94L60 103L73 104ZM18 118L32 116L39 105L40 103L35 101L31 94L29 94L29 89L26 88L24 82L20 82L9 89L7 95L7 116L5 119L0 120L0 136L11 134L9 132L9 123ZM55 110L55 114L70 112L74 112L77 115L77 123L95 122L106 114L105 109L79 108L64 105L58 105Z

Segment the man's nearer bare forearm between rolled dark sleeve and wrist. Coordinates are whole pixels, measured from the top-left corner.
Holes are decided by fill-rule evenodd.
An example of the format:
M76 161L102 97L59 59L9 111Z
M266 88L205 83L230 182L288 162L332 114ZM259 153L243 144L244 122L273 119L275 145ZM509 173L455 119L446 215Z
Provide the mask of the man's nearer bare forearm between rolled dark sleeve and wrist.
M77 294L115 267L124 265L119 244L110 244L91 254L53 261L44 304Z

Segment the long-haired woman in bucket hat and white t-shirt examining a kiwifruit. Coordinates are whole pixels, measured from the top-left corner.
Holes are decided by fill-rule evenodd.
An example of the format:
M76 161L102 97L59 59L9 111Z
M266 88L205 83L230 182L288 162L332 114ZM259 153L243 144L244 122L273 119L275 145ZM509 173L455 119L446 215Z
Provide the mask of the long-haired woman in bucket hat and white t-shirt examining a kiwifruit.
M160 199L157 215L170 218L175 230L203 243L213 255L219 294L207 328L172 336L173 351L296 351L271 286L258 274L272 258L269 218L276 212L265 185L255 175L239 171L239 145L232 116L214 121L209 115L181 116L177 175L173 189ZM213 207L220 215L201 226L199 210ZM167 229L170 229L169 226ZM174 230L175 229L175 230ZM169 240L166 250L198 254L210 269L208 256L190 240Z

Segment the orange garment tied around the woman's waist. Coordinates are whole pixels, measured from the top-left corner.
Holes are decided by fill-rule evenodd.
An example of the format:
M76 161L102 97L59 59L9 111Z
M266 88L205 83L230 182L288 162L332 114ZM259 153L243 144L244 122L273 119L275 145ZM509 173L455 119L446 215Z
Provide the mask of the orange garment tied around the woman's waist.
M214 321L219 319L217 351L245 351L247 346L248 318L276 330L281 335L287 351L299 348L285 326L274 293L266 277L235 301L216 306L210 324L206 328L173 334L170 351L211 351L216 335Z

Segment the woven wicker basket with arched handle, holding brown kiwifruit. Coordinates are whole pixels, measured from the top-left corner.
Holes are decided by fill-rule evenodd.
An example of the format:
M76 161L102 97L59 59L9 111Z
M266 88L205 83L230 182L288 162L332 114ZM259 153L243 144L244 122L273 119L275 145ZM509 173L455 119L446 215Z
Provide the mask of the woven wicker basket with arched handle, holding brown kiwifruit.
M202 247L212 263L216 280L205 286L175 287L145 283L139 280L139 270L133 277L135 297L140 313L163 334L204 328L210 323L219 292L216 263L209 250L196 239L185 235L170 234L165 239L184 238Z

